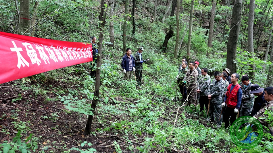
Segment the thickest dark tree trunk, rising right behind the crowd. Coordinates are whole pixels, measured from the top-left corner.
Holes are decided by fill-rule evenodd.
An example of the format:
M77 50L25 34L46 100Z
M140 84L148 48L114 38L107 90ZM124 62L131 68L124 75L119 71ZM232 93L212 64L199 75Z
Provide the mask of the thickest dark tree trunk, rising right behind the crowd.
M232 0L232 18L230 24L230 32L228 36L228 46L226 53L226 67L230 69L231 74L237 72L236 68L236 50L240 33L241 16L242 16L242 0Z

